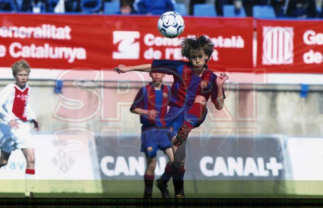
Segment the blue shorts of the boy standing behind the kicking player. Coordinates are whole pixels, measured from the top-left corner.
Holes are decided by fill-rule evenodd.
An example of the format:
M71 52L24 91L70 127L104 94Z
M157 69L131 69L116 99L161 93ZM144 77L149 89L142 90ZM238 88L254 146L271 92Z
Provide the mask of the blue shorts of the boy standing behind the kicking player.
M141 132L140 151L144 152L147 157L154 158L158 150L164 151L171 147L166 128L150 127Z

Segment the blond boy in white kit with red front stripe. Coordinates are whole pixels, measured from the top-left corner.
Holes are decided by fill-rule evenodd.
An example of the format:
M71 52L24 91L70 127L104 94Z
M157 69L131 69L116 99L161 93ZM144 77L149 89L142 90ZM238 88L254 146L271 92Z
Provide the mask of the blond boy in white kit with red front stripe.
M30 66L25 60L20 60L12 65L12 73L16 83L8 84L0 92L0 167L8 163L11 151L21 149L27 162L25 195L33 197L34 187L30 179L35 176L35 153L30 123L34 123L35 131L39 130L39 123L28 100Z

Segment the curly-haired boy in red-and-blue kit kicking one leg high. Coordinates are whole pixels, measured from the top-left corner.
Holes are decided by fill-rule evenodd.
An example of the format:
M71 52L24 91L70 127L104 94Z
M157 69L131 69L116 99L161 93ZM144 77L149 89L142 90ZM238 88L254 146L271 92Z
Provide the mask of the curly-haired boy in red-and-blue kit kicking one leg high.
M153 60L152 64L133 67L119 65L117 73L127 71L158 71L173 75L170 109L166 115L169 139L173 143L174 162L172 164L175 197L184 197L185 147L188 133L202 124L207 115L208 98L217 110L224 105L223 84L229 77L225 73L215 75L208 69L214 44L206 37L185 38L181 43L182 55L189 62Z

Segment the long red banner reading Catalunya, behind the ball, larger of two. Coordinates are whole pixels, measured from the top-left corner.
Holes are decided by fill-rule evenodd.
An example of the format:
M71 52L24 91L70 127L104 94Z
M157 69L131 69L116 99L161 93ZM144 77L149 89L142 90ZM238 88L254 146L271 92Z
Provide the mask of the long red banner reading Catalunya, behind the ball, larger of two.
M0 67L26 59L33 68L113 69L152 59L185 60L180 39L214 42L210 69L253 67L253 19L185 17L179 38L161 36L157 16L0 15Z

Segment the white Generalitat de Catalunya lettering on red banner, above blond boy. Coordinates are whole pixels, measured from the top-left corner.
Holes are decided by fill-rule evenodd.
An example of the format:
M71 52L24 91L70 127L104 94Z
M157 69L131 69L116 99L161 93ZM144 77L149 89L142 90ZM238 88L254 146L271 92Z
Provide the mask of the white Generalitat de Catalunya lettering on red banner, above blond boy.
M0 57L8 54L13 58L32 59L66 59L69 64L75 60L86 60L87 52L84 47L70 47L69 45L54 46L51 40L60 40L61 43L72 40L71 27L42 24L41 26L0 26L0 38L14 39L8 47L0 45ZM31 39L24 41L24 39ZM37 39L43 41L36 41ZM65 40L65 41L64 41ZM35 43L33 43L35 42Z

